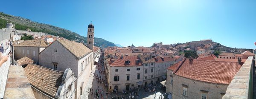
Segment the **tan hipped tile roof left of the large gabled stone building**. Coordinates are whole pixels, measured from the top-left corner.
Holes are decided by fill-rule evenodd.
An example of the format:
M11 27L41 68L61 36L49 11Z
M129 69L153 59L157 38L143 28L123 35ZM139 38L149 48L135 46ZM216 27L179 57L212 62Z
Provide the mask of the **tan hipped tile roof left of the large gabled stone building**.
M47 42L42 39L37 40L25 40L14 46L26 46L26 47L47 47Z

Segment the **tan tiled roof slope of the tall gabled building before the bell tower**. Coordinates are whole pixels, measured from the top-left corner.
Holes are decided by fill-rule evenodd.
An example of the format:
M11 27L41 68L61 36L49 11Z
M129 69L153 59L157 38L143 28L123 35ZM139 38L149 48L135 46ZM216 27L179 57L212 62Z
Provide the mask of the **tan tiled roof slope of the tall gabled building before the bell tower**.
M90 48L87 48L87 46L85 46L82 43L73 42L69 40L57 40L57 41L60 42L65 48L67 48L67 50L69 50L77 58L81 58L84 55L92 52Z

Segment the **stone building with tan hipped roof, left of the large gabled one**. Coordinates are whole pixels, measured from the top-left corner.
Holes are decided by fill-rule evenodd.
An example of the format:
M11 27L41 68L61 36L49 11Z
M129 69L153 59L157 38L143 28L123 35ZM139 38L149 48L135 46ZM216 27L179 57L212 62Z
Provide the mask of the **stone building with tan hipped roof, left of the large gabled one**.
M14 56L15 59L21 59L23 57L28 57L36 64L39 63L39 53L46 48L47 42L44 40L25 40L19 44L14 45Z

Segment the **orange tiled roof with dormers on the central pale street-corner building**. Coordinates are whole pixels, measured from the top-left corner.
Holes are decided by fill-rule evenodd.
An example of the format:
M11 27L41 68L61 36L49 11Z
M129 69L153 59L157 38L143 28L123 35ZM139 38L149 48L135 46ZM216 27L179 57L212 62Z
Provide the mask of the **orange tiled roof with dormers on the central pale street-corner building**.
M138 59L137 56L123 56L123 58L118 57L110 66L113 67L123 67L123 66L141 66L141 61L139 63L136 62ZM130 63L126 64L125 61L129 60Z

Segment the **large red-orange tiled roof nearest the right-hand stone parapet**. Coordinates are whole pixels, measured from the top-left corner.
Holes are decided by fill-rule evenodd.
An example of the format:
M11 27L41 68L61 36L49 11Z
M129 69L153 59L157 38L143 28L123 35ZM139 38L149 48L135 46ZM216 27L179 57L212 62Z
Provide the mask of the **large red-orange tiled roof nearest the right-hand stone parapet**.
M191 65L189 59L183 59L173 73L202 82L230 84L240 68L238 62L193 59Z

